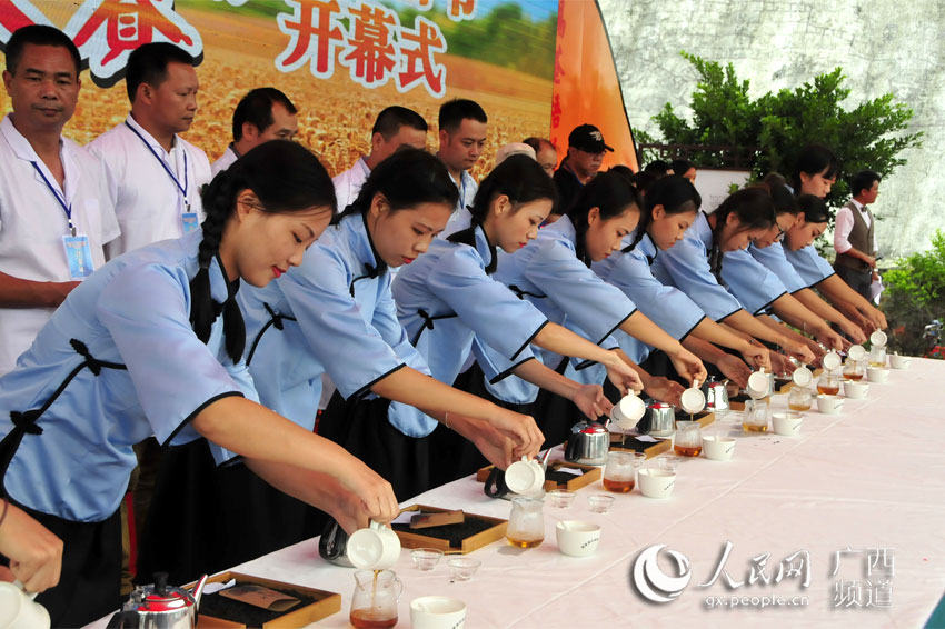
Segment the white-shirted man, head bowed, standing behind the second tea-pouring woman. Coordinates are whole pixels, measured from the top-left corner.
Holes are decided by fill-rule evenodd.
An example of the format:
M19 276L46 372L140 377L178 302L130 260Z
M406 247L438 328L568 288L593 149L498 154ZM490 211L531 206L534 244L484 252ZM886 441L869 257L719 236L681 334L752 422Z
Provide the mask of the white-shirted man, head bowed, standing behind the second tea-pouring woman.
M371 129L370 154L361 157L349 170L331 179L338 211L344 212L355 200L377 164L405 146L420 150L427 148L427 121L412 109L395 104L377 114Z

